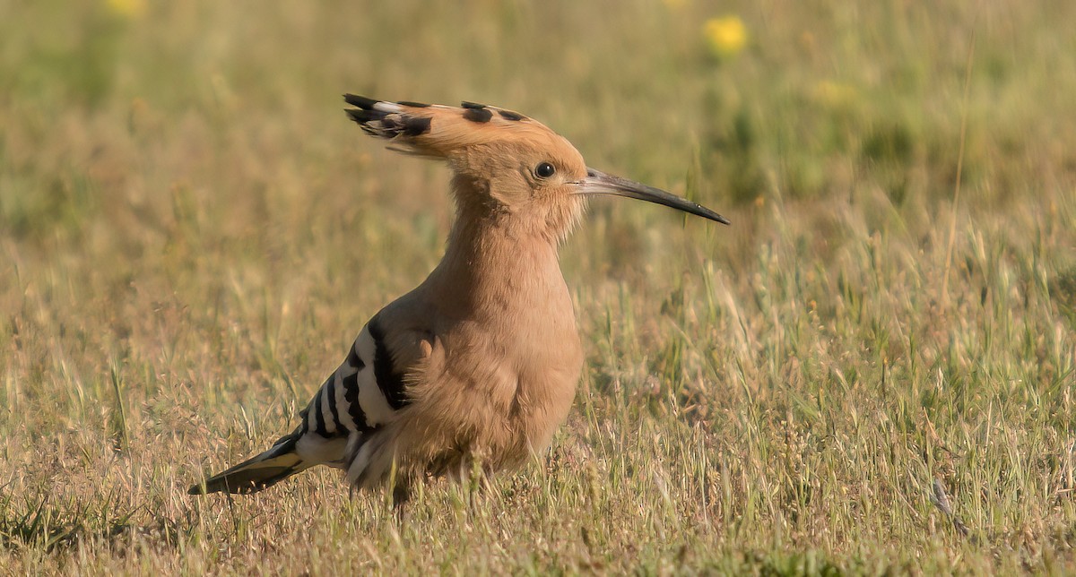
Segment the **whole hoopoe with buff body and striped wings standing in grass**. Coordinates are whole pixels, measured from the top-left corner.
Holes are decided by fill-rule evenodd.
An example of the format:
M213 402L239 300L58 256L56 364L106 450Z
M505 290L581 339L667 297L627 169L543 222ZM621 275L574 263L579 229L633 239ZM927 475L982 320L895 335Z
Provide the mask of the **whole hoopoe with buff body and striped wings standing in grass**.
M269 450L190 488L252 493L306 468L391 484L396 503L426 477L492 473L544 450L568 415L583 364L557 248L595 194L723 216L583 162L522 114L345 95L364 132L452 170L455 220L417 288L359 331L343 363Z

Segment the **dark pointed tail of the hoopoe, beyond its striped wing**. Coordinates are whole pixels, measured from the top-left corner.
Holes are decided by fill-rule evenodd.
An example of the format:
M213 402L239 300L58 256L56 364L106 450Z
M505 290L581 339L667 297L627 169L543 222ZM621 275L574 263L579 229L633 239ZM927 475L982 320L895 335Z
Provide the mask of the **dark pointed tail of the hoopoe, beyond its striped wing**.
M206 479L204 484L192 486L187 493L200 495L225 491L228 493L256 493L305 471L316 462L305 461L296 451L296 444L302 433L281 437L272 448L238 465Z

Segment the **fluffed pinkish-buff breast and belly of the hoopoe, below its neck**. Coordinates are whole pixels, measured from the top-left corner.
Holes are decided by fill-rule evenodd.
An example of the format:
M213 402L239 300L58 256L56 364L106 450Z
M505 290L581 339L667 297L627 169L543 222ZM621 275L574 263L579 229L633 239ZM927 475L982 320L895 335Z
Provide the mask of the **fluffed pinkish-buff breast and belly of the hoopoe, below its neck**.
M439 461L480 455L493 468L518 465L549 446L571 407L583 355L567 289L499 313L437 331L415 380L408 418L442 433L440 449L427 448Z

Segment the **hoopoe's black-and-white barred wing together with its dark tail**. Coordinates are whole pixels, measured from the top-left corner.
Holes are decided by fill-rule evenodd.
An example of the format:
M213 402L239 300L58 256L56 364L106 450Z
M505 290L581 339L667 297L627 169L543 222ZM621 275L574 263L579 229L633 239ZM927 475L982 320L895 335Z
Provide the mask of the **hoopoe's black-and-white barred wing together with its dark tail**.
M360 448L381 425L407 404L401 375L374 317L363 328L348 358L299 413L302 422L292 434L242 463L190 487L190 494L255 493L325 464L349 470L349 477L366 479Z

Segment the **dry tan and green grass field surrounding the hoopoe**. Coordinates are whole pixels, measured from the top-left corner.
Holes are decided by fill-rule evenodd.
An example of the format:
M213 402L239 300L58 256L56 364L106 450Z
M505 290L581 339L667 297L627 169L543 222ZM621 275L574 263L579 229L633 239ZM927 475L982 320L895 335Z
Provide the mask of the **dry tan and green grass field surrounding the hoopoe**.
M1076 4L362 4L0 0L0 573L1076 571ZM343 91L734 222L594 202L550 457L404 522L184 493L439 258L447 171Z

